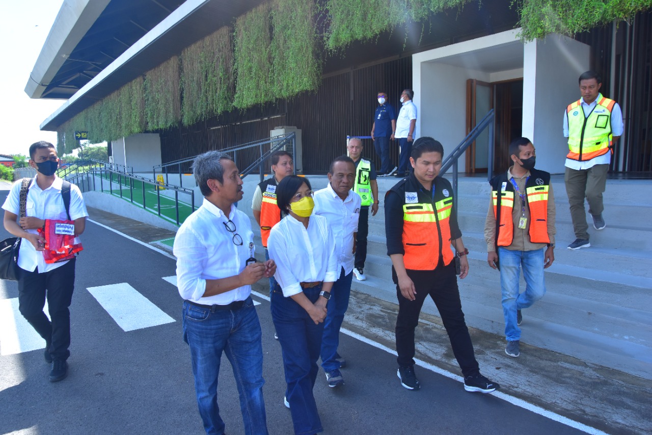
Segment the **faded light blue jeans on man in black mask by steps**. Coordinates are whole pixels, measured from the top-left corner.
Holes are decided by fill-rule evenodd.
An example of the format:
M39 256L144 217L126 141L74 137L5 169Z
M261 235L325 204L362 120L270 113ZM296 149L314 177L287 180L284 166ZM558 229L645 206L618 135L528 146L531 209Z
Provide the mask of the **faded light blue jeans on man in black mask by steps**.
M507 341L521 339L521 329L516 325L516 310L531 306L546 294L543 266L546 248L536 251L510 251L498 247L500 259L500 287L503 291L503 314ZM520 268L526 279L526 291L518 293Z

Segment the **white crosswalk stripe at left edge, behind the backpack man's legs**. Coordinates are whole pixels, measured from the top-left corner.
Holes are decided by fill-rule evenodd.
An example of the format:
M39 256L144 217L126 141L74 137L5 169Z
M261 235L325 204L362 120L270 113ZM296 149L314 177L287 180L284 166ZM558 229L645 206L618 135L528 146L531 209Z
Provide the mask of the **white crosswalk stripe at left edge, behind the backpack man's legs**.
M43 308L48 313L48 302ZM18 311L18 298L0 300L0 355L45 349L45 340Z

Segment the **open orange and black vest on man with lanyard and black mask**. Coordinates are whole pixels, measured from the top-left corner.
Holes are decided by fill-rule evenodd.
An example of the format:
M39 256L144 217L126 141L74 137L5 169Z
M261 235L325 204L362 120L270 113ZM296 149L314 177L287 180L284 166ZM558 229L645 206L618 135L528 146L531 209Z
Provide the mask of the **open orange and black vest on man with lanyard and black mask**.
M496 246L510 246L514 239L514 220L512 210L514 201L521 198L514 185L507 179L507 172L491 180L496 217ZM548 190L550 174L532 169L526 182L526 206L529 208L529 238L532 243L550 243L548 236ZM518 227L518 221L516 221Z

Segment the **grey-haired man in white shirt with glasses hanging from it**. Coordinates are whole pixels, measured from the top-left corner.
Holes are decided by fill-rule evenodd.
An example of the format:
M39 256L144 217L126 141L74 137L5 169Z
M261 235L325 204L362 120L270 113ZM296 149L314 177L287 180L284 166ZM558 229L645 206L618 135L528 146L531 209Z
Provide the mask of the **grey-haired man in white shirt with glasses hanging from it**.
M197 404L207 434L224 434L217 405L222 351L233 366L246 434L267 434L261 329L251 285L273 276L273 260L254 259L249 218L233 205L243 197L230 156L211 151L192 165L204 196L174 240L183 339L190 346Z

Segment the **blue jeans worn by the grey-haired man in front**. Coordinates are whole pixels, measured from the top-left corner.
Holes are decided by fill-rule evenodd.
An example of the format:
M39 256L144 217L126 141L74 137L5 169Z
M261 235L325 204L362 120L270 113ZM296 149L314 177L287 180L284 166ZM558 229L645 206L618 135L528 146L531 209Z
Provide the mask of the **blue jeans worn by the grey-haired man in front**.
M206 433L224 434L217 405L217 380L224 351L240 395L244 433L266 435L263 347L252 298L248 297L240 310L215 310L184 302L183 340L190 346L197 404Z

